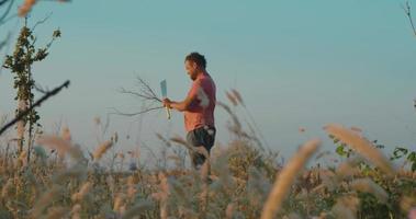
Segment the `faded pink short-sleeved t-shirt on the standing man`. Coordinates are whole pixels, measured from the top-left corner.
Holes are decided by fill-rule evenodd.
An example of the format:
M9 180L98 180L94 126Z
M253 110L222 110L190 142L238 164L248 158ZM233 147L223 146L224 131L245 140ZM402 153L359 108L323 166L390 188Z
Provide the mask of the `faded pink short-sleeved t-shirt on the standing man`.
M201 73L192 83L188 92L189 97L194 97L188 111L184 112L184 127L187 131L195 128L214 126L215 110L215 83L207 73Z

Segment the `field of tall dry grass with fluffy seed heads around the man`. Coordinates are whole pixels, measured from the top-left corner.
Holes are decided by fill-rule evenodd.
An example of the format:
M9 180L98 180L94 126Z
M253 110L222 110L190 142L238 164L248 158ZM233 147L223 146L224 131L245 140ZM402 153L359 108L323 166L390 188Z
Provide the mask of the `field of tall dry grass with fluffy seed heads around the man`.
M282 163L252 129L245 130L232 107L218 105L231 115L233 138L226 147L213 148L211 170L187 168L188 146L178 137L159 136L165 150L154 151L159 160L153 168L133 151L111 151L116 135L90 154L71 141L68 129L44 135L30 162L14 142L2 141L0 218L411 217L416 206L412 163L393 165L358 128L325 127L347 155L319 154L321 142L314 139ZM340 162L321 165L328 157ZM136 163L121 166L128 159Z

